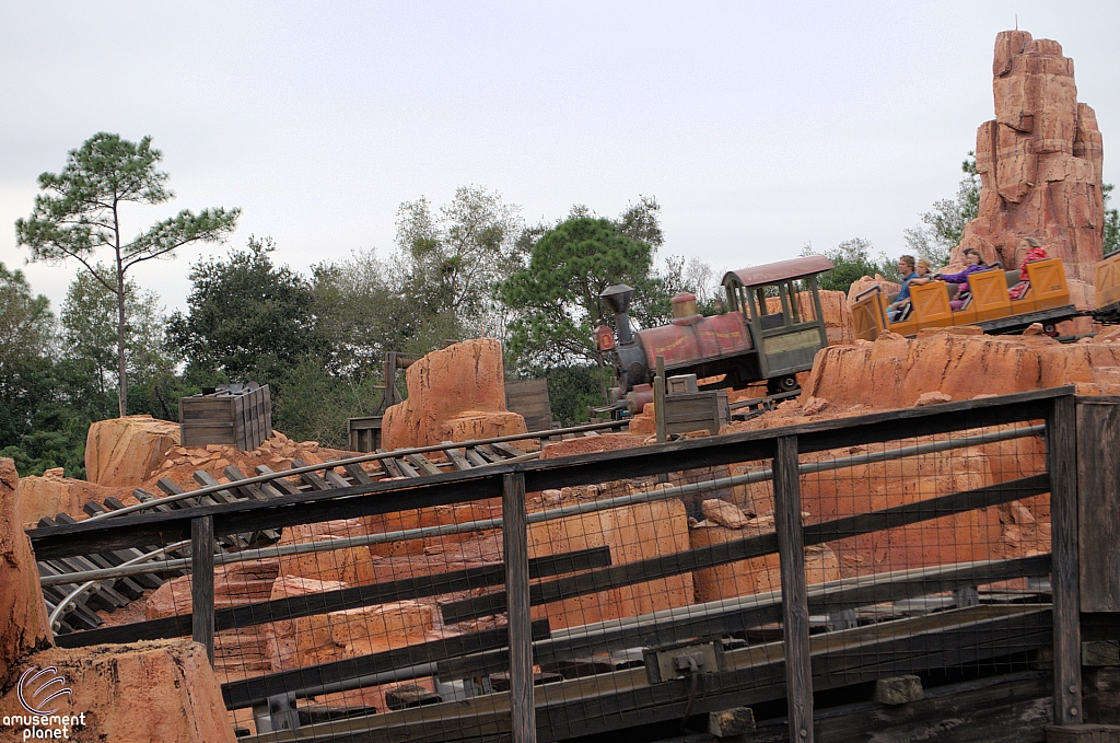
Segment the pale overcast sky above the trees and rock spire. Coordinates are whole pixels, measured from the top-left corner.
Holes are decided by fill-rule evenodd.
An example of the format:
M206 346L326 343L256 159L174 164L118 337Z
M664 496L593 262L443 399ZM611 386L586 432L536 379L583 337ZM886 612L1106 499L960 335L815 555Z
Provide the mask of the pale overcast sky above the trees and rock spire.
M134 269L169 310L190 264L269 235L300 271L393 250L402 202L478 185L554 222L661 204L662 256L716 270L843 240L903 250L995 115L996 34L1053 38L1120 136L1120 2L36 2L0 0L0 261L58 308L78 264L13 223L99 131L164 152L181 208L240 206L225 245Z

